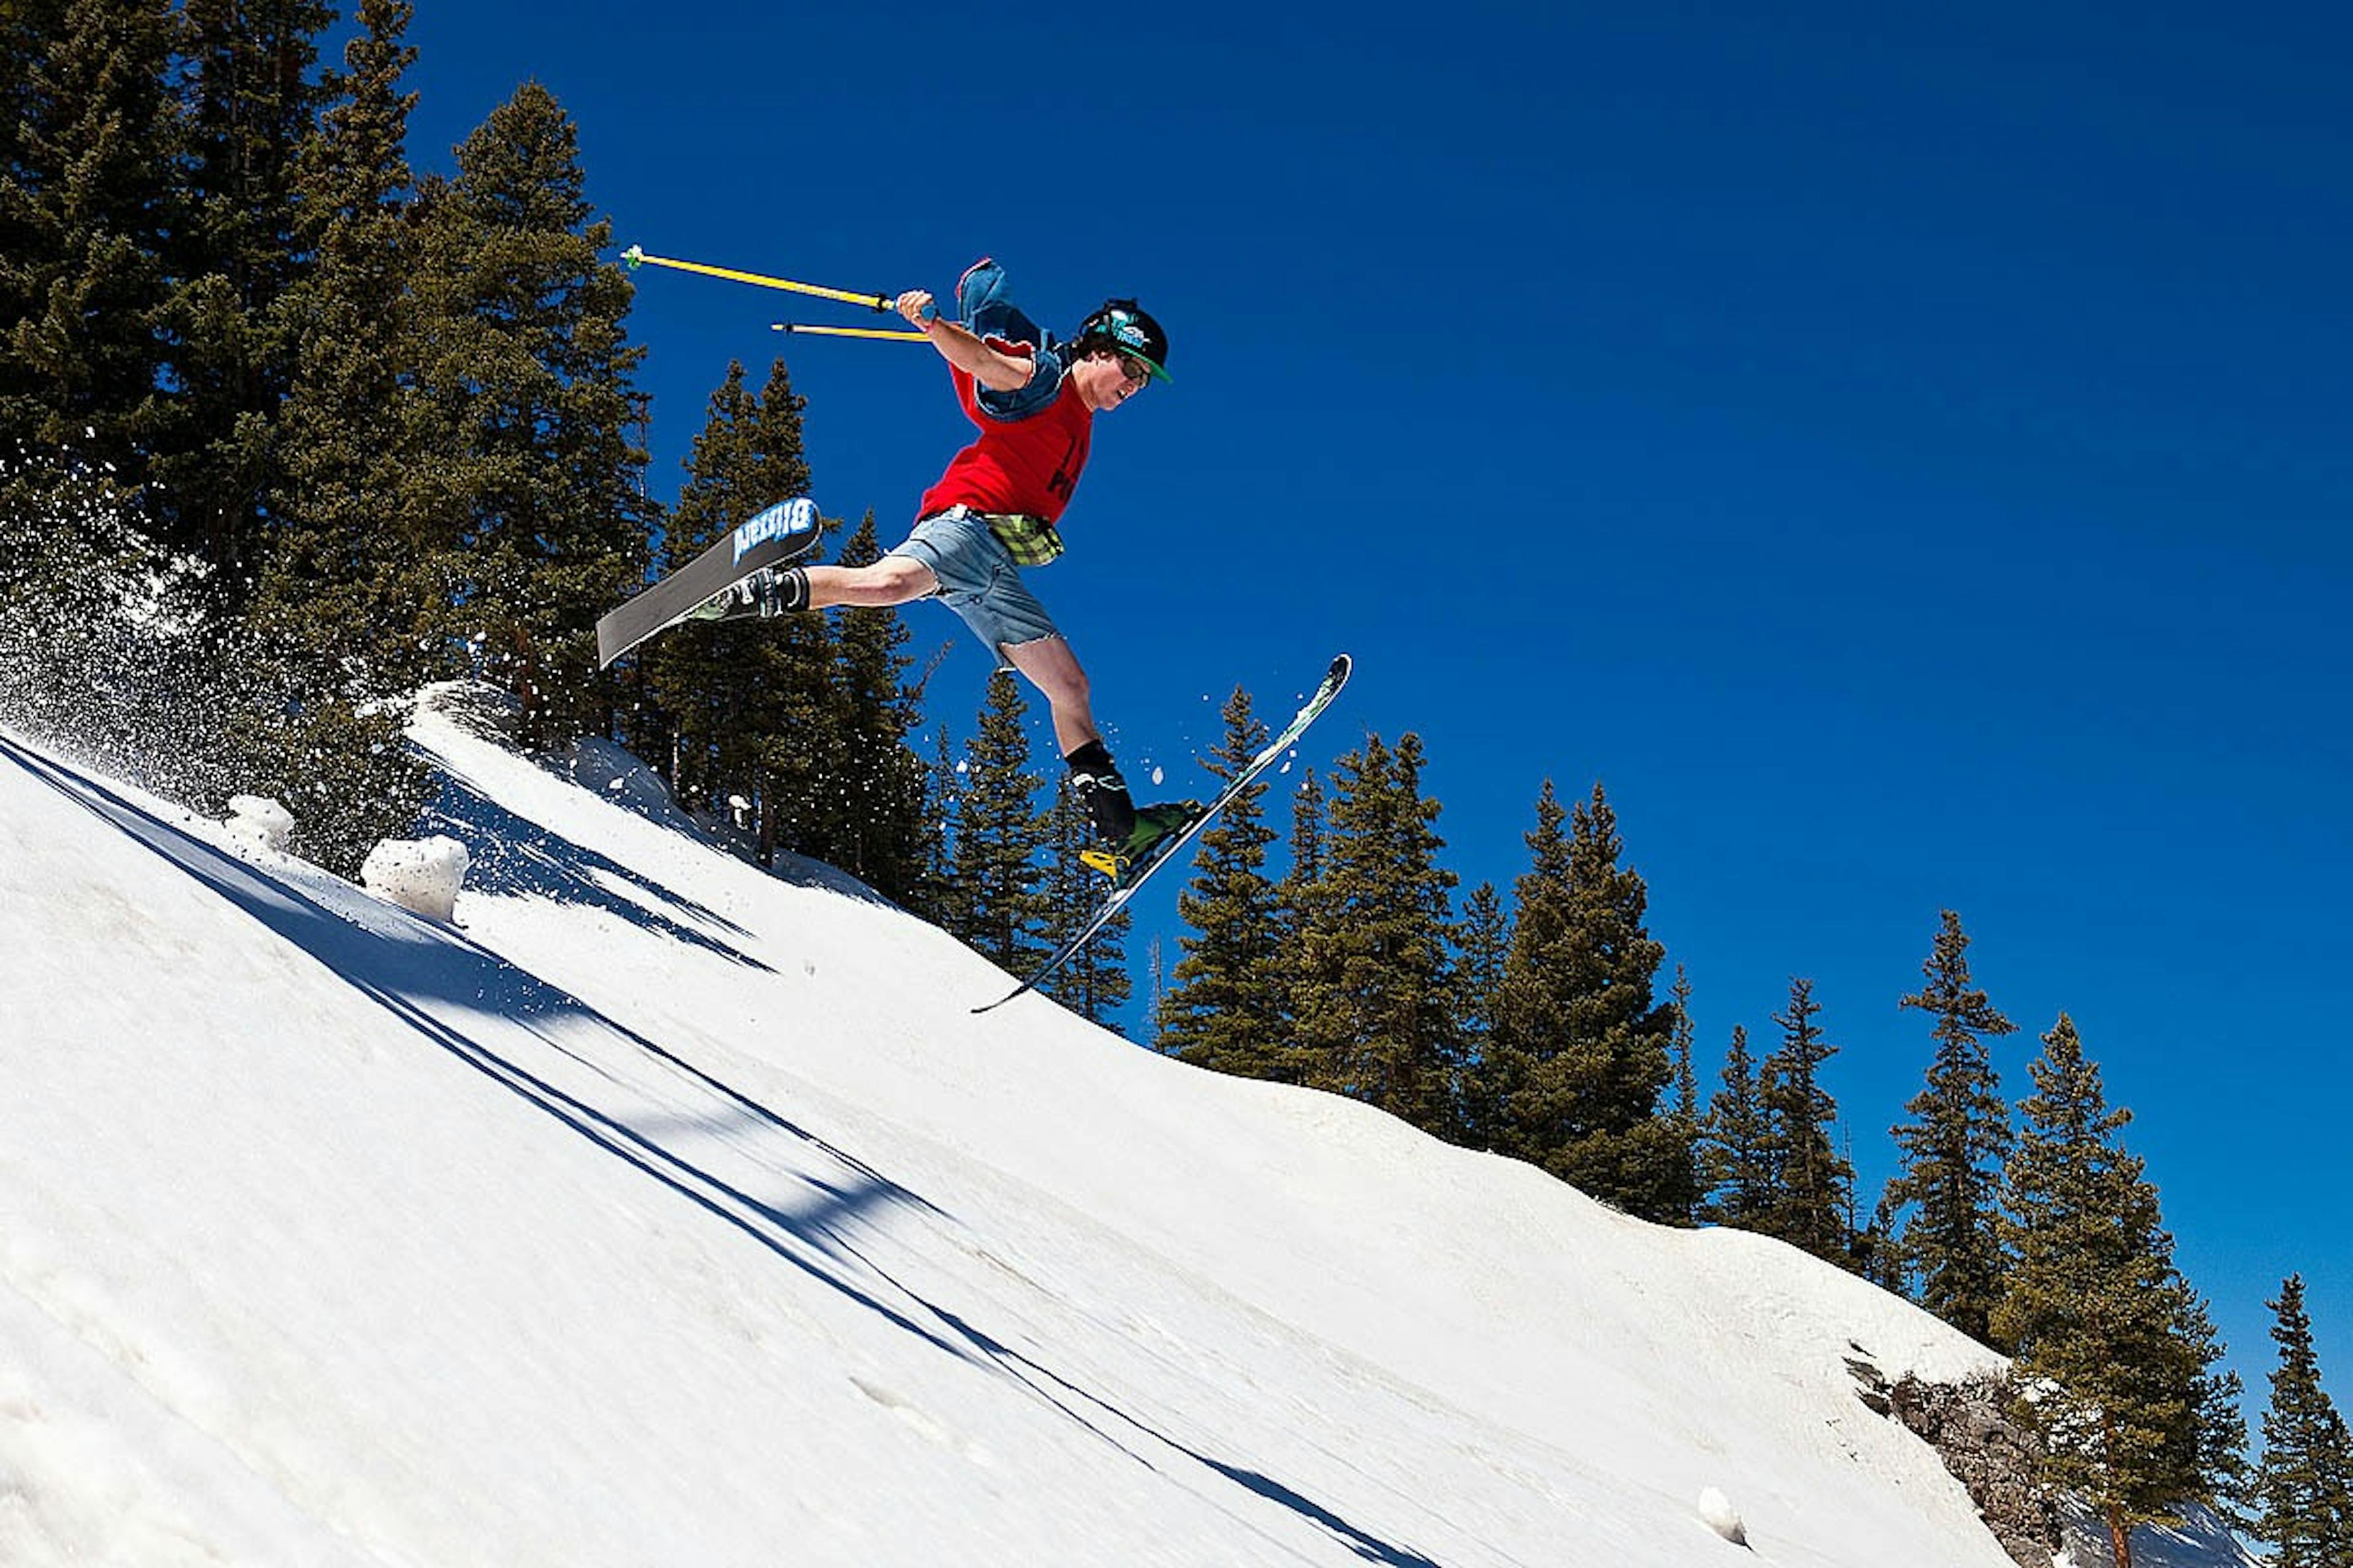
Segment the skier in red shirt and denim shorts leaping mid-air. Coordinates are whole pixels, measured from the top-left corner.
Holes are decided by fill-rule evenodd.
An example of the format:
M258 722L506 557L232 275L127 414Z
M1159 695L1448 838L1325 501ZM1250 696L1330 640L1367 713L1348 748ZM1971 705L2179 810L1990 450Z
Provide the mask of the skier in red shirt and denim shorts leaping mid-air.
M896 299L899 315L948 362L955 400L981 433L925 491L906 543L871 567L755 571L706 602L696 618L941 599L1000 665L1045 693L1071 788L1106 851L1092 863L1120 882L1155 844L1181 832L1198 806L1134 804L1094 722L1087 672L1021 581L1021 567L1061 555L1054 524L1087 465L1094 416L1169 378L1167 334L1136 301L1113 299L1073 341L1059 343L1005 299L1005 268L988 259L958 280L955 303L960 320L948 320L927 289Z

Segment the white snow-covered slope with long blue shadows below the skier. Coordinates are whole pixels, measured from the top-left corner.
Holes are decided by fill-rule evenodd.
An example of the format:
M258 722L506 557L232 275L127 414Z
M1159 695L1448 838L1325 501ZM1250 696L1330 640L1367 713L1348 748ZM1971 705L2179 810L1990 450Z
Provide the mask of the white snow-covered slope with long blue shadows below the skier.
M2007 1563L1913 1307L414 733L456 929L0 736L0 1561Z

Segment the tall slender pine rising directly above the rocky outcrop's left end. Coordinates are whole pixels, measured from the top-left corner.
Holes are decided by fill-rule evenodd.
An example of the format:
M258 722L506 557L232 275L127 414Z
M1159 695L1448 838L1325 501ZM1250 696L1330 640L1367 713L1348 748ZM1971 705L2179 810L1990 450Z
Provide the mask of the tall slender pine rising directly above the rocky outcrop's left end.
M1904 1159L1887 1201L1915 1206L1899 1246L1920 1305L1969 1338L1991 1340L2005 1274L2000 1185L2012 1133L1986 1037L2014 1034L2017 1025L1972 985L1969 938L1953 910L1944 912L1922 976L1927 985L1899 1006L1937 1020L1937 1058L1927 1088L1906 1107L1913 1119L1894 1128Z

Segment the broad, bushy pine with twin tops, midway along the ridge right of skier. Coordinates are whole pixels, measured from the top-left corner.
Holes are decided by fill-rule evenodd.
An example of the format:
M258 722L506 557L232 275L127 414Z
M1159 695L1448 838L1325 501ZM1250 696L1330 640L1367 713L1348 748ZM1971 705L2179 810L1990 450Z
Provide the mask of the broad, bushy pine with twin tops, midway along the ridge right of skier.
M1619 867L1624 844L1600 785L1562 813L1546 783L1527 844L1492 1039L1497 1147L1638 1218L1682 1218L1697 1173L1659 1103L1675 1020L1652 994L1666 950L1642 924L1649 891Z

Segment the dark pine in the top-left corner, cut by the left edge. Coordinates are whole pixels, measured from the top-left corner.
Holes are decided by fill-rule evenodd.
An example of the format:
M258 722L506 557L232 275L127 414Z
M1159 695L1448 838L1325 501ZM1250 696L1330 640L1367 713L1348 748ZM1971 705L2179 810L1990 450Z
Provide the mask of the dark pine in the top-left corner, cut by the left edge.
M146 482L181 148L169 0L5 14L0 430Z

